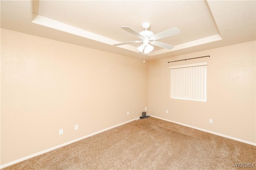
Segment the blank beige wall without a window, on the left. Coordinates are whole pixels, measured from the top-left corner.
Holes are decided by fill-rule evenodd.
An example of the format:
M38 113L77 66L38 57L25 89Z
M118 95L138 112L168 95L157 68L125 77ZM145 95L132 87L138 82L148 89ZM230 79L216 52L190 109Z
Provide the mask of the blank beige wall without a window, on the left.
M1 165L139 117L147 74L139 59L1 29Z

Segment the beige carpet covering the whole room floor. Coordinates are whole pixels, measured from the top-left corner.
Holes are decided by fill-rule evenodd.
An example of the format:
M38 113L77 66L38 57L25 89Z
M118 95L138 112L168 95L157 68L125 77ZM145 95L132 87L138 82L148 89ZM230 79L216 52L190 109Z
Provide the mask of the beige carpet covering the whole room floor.
M256 146L149 117L24 160L4 170L256 170L256 165L246 167L253 163L256 163ZM243 167L234 167L234 164Z

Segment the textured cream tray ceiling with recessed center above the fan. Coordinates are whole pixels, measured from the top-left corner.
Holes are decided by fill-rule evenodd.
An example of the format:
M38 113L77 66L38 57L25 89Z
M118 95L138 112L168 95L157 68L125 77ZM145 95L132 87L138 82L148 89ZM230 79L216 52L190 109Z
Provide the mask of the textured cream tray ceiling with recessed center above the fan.
M140 32L149 22L154 33L177 27L180 34L158 40L175 47L155 46L146 57L152 60L255 41L255 6L232 0L1 0L1 27L136 58L140 43L112 46L138 40L121 26Z

